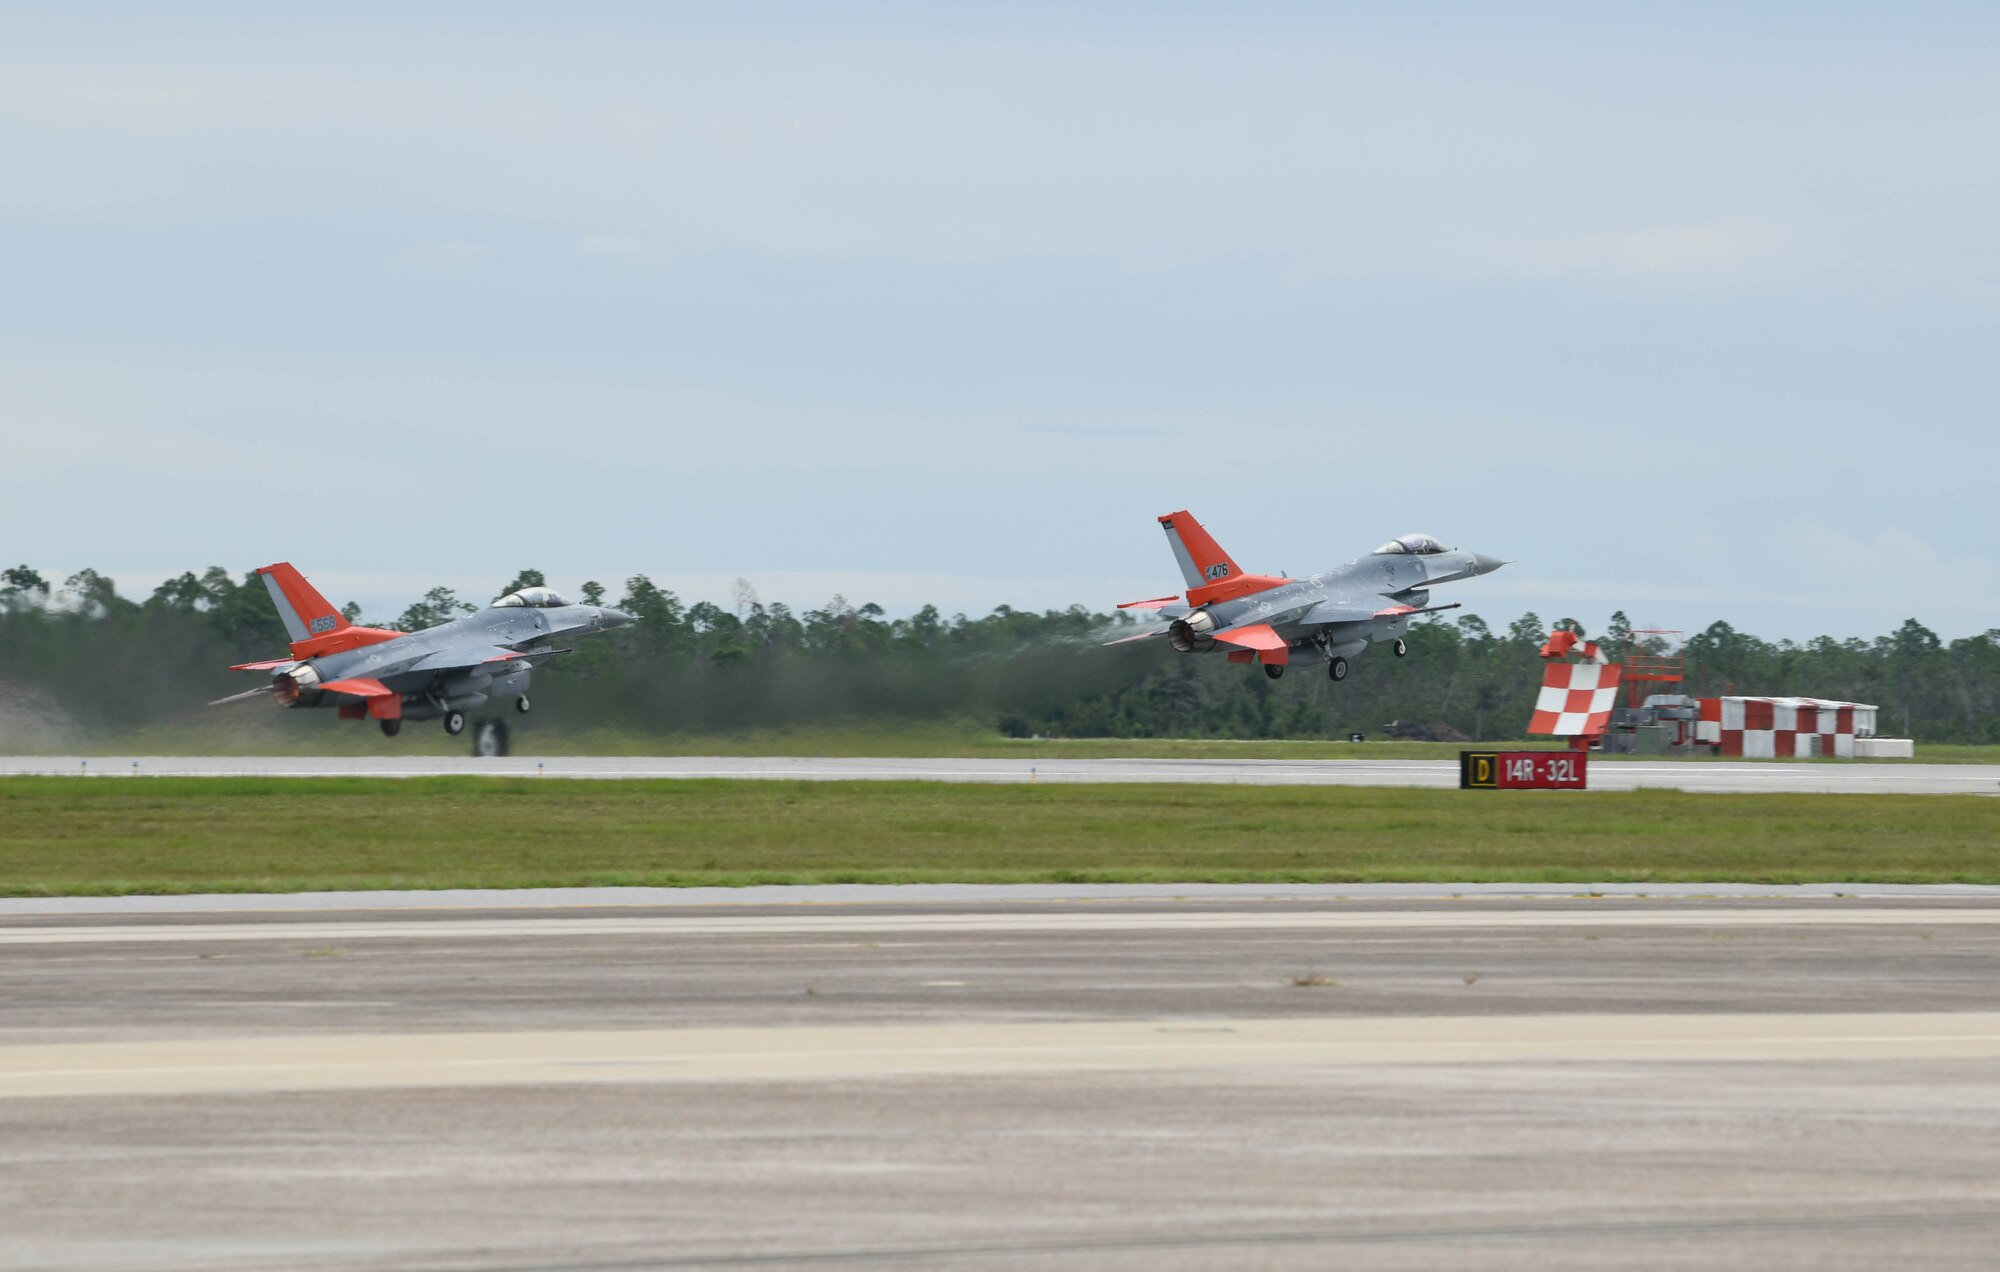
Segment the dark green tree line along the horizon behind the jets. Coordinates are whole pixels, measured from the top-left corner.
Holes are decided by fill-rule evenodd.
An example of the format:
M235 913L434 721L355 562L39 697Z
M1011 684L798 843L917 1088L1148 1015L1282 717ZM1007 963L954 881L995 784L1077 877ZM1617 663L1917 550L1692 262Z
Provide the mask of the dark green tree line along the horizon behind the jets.
M494 596L542 586L522 570ZM734 604L688 604L644 574L578 600L638 616L536 672L552 728L730 732L824 722L950 720L1010 736L1344 738L1390 722L1518 738L1540 686L1536 650L1560 618L1494 628L1476 614L1412 624L1410 656L1354 660L1340 684L1300 666L1282 680L1164 640L1106 646L1142 630L1130 614L1082 606L890 618L834 596L796 612L738 584ZM422 630L486 598L432 588L372 626ZM360 622L358 606L346 606ZM1150 618L1144 620L1150 624ZM1618 658L1622 614L1594 636ZM256 574L186 572L144 600L80 570L60 586L30 566L0 570L0 686L34 690L86 726L158 724L248 682L230 662L284 654L284 626ZM1874 640L1768 642L1714 622L1686 640L1688 692L1796 694L1882 706L1882 732L1930 742L2000 742L2000 628L1952 642L1910 618ZM0 698L0 712L6 700ZM4 724L4 720L0 720ZM4 738L0 738L4 740Z

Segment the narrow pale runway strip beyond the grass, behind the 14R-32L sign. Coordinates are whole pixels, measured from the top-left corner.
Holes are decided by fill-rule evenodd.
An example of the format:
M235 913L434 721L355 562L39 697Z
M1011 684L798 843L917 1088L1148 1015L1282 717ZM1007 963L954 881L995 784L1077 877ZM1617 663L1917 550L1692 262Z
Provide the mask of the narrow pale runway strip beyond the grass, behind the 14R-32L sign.
M838 756L0 756L0 776L762 778L794 782L1220 782L1458 786L1456 760L898 760ZM1594 760L1594 790L2000 794L1996 764Z

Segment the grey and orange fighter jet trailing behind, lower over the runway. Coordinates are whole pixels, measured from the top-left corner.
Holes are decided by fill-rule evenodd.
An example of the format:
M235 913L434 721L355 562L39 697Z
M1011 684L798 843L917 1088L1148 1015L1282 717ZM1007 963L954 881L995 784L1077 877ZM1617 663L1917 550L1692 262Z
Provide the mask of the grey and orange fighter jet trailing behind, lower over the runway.
M522 588L478 614L422 632L358 628L290 562L258 574L284 618L292 656L232 666L232 672L270 672L270 684L210 706L270 694L282 706L334 706L342 720L376 720L390 738L404 720L444 720L444 732L458 736L466 712L488 698L512 696L514 710L526 714L528 674L570 652L558 642L632 622L620 610L570 604L550 588ZM474 754L498 754L494 734L482 730ZM504 732L498 738L504 750Z

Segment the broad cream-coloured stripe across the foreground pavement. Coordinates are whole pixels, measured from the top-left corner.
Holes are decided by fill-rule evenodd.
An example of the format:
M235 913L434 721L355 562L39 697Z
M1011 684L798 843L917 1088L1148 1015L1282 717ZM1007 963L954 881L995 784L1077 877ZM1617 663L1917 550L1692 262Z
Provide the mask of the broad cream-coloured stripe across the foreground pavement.
M826 1082L1346 1064L1994 1060L2000 1012L1328 1016L490 1034L0 1048L0 1098Z

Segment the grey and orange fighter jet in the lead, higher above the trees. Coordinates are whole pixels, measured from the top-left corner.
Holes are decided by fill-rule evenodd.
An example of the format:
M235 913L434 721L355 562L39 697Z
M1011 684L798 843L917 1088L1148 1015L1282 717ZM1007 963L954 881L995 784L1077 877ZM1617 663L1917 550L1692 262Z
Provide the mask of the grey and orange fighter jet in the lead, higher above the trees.
M1346 680L1348 658L1380 640L1394 640L1402 658L1410 652L1404 642L1410 618L1458 608L1456 602L1430 604L1432 586L1492 574L1506 564L1446 548L1428 534L1404 534L1310 578L1244 574L1188 512L1168 512L1160 526L1188 594L1118 606L1158 610L1172 622L1110 644L1160 634L1182 654L1206 654L1220 644L1228 646L1230 662L1258 662L1272 680L1294 662L1324 662L1330 678Z

